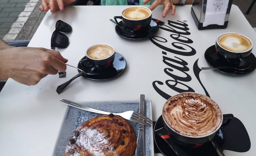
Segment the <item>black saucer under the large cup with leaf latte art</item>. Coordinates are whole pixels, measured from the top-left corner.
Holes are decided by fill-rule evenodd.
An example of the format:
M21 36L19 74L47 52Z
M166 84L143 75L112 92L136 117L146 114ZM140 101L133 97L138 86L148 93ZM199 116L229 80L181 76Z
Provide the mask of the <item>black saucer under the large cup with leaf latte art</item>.
M167 143L159 137L158 134L156 134L155 130L158 130L163 127L163 118L162 115L157 119L156 124L154 126L154 141L156 143L156 146L161 151L161 153L164 156L177 156L174 151L167 145ZM215 141L218 143L219 147L223 149L224 144L224 137L222 130L219 130L217 135L215 136ZM181 145L178 145L180 148L182 148L188 156L218 156L215 148L213 147L212 143L204 143L201 147L198 148L189 148L189 147L182 147Z

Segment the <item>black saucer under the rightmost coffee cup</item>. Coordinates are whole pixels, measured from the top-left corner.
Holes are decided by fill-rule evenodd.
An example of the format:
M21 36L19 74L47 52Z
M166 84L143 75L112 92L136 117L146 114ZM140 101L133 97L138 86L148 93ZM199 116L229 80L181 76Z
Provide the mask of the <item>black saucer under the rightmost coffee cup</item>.
M212 66L212 67L219 67L219 66L226 66L226 64L219 59L217 54L215 53L215 45L210 46L204 53L204 58L206 62ZM232 68L227 69L216 69L220 72L226 73L226 74L233 74L233 75L243 75L248 74L256 68L256 57L254 54L250 54L247 58L245 58L245 61L252 63L251 67L245 69L245 70L237 70Z

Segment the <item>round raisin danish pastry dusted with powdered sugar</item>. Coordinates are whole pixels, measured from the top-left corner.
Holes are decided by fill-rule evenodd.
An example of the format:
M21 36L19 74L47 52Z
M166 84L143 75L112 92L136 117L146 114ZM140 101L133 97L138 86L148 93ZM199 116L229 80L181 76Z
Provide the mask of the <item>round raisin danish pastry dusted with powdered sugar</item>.
M65 156L132 156L136 149L135 131L118 115L93 117L73 132Z

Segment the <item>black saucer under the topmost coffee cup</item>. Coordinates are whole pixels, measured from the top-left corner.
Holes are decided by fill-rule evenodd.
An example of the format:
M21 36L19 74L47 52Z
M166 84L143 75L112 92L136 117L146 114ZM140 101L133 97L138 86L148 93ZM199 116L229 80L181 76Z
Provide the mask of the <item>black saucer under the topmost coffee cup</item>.
M119 22L120 25L124 25L122 21ZM123 29L121 29L119 26L115 26L115 32L121 36L124 37L126 39L147 39L149 37L152 37L153 35L156 34L156 32L158 32L159 30L159 26L156 24L156 22L154 22L153 20L151 20L150 25L146 28L143 28L141 30L135 31L136 36L134 37L130 37L127 36L124 32Z

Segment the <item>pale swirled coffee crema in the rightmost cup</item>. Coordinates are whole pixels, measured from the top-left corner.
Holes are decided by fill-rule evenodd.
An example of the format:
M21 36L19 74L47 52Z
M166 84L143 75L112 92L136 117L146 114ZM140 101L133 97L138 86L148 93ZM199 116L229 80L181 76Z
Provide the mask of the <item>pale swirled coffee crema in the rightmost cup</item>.
M232 52L244 52L252 47L252 43L247 37L235 33L221 35L218 38L218 43L222 48Z

